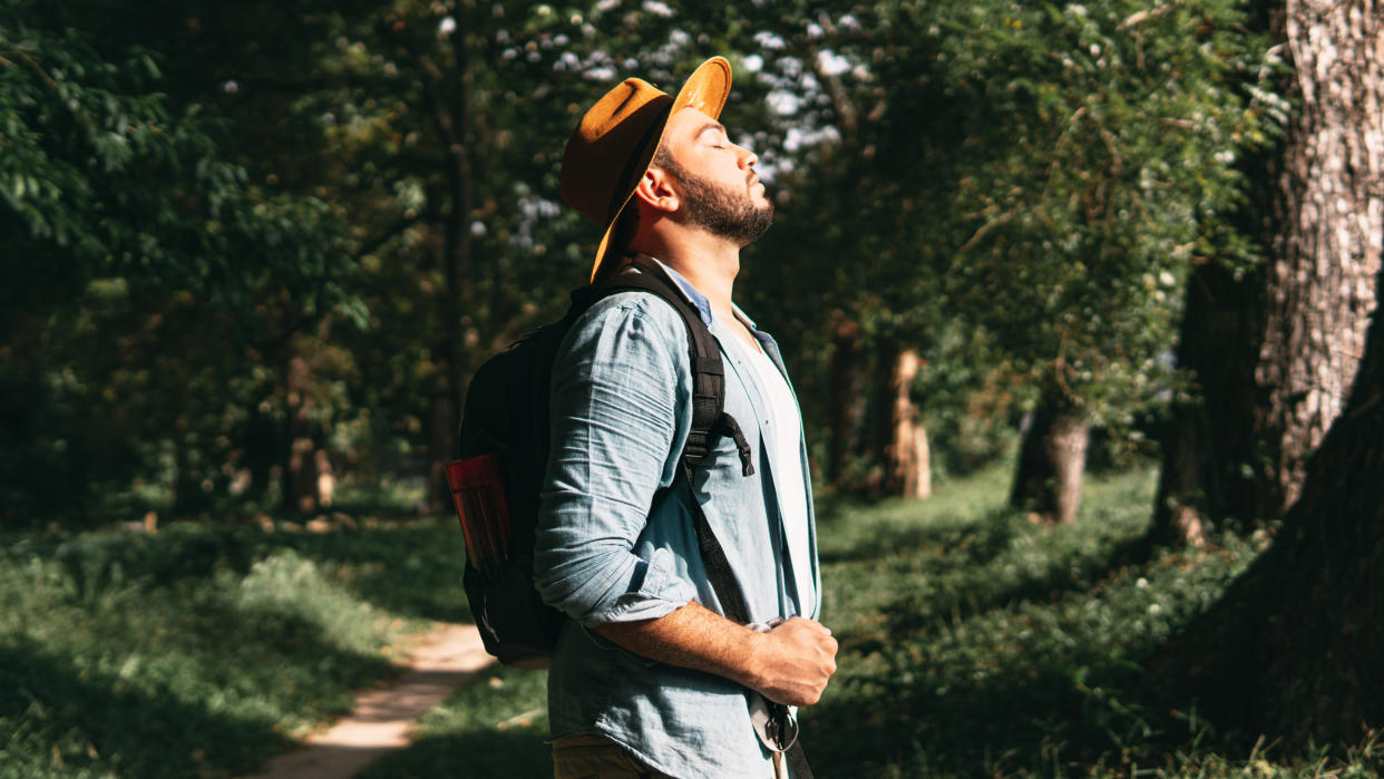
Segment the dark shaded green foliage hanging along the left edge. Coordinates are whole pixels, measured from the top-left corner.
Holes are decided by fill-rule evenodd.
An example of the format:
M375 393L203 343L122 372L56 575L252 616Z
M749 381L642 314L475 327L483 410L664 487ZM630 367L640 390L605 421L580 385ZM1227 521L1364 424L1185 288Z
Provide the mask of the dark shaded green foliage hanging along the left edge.
M0 497L78 517L131 482L224 483L266 345L349 303L321 201L267 194L149 50L0 6ZM270 368L273 369L273 368Z

